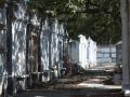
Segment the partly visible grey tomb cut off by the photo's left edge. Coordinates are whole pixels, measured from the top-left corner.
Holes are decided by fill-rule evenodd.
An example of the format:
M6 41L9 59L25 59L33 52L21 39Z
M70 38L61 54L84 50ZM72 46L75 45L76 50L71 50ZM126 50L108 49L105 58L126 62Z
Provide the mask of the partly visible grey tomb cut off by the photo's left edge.
M6 96L6 4L0 1L0 95Z

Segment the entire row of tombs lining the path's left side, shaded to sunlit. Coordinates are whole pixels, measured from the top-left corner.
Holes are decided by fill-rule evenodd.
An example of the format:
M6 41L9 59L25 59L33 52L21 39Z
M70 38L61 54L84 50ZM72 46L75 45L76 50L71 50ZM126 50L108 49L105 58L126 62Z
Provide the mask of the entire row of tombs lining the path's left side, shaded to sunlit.
M96 64L96 43L79 36L68 43L56 18L27 10L23 0L0 0L0 95L16 94L36 83L60 78Z

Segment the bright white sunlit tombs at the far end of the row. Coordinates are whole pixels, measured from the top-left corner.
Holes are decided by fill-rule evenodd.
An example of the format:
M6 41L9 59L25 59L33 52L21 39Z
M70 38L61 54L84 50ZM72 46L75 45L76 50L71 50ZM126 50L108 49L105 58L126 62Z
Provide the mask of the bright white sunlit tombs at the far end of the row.
M76 64L81 69L93 67L96 65L96 42L91 38L86 38L82 34L78 36L79 40L72 40L68 45L68 53L72 58L73 66ZM72 69L75 70L75 67Z

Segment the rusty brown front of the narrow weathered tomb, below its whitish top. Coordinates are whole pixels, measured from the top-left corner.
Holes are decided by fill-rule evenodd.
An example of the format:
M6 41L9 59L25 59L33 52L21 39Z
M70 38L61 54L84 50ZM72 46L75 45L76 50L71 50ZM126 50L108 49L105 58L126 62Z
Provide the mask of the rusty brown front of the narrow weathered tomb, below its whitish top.
M38 33L30 32L28 39L27 71L29 73L29 85L39 81L38 66Z

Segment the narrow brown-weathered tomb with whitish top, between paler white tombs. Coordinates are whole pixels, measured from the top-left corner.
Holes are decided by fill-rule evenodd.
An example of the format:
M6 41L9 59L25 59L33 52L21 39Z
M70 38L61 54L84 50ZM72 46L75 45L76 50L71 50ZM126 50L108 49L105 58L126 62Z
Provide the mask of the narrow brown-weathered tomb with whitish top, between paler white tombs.
M27 34L27 72L29 74L28 84L31 86L39 82L39 38L40 38L40 17L35 10L29 12L30 23Z

